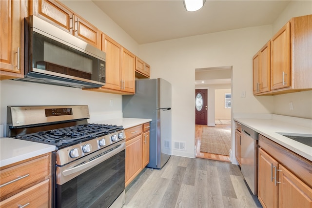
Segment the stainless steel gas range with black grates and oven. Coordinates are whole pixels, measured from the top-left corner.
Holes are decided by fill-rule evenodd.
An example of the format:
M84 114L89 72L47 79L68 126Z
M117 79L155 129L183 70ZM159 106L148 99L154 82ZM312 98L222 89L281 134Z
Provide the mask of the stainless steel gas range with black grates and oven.
M7 107L9 137L56 146L53 207L121 208L125 201L123 127L88 124L88 118L87 105Z

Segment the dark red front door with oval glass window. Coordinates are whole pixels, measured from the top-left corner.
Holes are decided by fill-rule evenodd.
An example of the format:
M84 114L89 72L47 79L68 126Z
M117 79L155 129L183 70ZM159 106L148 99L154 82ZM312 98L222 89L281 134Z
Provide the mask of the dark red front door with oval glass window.
M207 89L195 90L195 124L207 125Z

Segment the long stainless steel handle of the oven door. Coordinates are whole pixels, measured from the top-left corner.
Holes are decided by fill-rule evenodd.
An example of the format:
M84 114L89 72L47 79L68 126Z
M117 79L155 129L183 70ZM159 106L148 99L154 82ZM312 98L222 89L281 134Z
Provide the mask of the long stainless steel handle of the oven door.
M110 151L110 152L107 152L106 154L94 159L94 160L91 160L90 162L88 163L84 163L84 164L81 164L81 165L78 165L78 166L75 166L73 168L70 168L68 170L64 170L62 172L62 174L64 176L69 176L69 175L72 175L72 174L75 174L77 172L84 172L85 170L88 170L88 169L91 169L92 167L98 165L99 163L103 162L104 160L107 160L108 158L116 155L117 153L121 152L122 150L125 149L125 144L126 143L122 143L120 146L118 146L117 148L115 148L114 150Z

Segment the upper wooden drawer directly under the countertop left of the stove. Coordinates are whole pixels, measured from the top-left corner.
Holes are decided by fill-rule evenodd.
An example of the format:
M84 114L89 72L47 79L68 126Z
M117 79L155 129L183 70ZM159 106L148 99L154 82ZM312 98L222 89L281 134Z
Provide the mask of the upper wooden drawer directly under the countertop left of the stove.
M2 201L17 192L48 179L50 174L50 153L17 166L0 170L0 200Z

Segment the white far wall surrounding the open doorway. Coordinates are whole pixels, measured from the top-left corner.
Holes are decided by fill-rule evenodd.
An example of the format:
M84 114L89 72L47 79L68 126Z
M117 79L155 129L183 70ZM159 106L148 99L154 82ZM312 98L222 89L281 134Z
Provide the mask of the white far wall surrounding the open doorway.
M233 66L233 112L272 113L272 97L253 96L251 61L271 35L266 25L140 45L141 58L152 66L151 77L172 84L172 136L187 147L173 154L195 157L196 68ZM240 98L241 91L246 98Z

